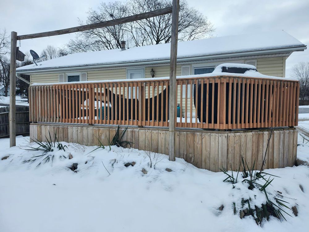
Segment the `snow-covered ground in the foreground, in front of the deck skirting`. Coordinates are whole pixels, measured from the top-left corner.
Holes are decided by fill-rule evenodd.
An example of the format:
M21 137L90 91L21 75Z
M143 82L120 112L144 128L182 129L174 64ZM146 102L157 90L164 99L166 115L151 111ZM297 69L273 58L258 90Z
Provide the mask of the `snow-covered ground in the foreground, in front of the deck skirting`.
M275 177L267 191L280 191L298 216L271 217L257 226L251 216L240 219L241 199L253 194L239 177L233 188L226 175L202 170L183 159L128 148L99 148L67 144L53 161L23 163L39 151L26 151L29 137L17 137L17 147L0 139L0 231L306 231L309 215L309 168L266 170ZM298 153L309 146L298 139ZM91 153L89 153L91 152ZM64 155L72 159L62 158ZM2 157L9 156L5 160ZM309 155L308 155L309 156ZM125 167L127 162L136 162ZM157 162L157 163L156 163ZM68 167L78 163L77 172ZM155 164L156 163L156 164ZM37 166L37 167L36 167ZM106 167L106 169L104 168ZM148 173L143 174L142 169ZM170 168L172 171L166 171ZM110 173L110 174L109 174ZM303 191L299 185L303 187ZM263 202L259 190L255 204ZM255 198L255 199L254 199ZM233 202L237 214L233 213ZM223 204L222 211L218 208Z

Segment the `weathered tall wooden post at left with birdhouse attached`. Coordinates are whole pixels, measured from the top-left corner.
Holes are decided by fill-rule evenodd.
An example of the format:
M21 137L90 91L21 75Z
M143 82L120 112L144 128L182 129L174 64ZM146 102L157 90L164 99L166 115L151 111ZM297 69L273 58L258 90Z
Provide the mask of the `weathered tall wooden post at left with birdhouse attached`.
M11 32L10 60L10 147L16 145L15 98L16 98L16 44L17 33Z

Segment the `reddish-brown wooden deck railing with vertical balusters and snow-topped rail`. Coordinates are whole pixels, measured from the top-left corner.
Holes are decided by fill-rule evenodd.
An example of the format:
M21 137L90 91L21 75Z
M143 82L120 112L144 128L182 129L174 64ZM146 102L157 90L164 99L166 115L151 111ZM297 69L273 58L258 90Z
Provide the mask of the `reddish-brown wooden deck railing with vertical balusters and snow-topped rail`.
M215 76L177 79L176 127L296 126L299 83ZM29 87L31 122L167 127L169 80L114 80ZM176 108L176 107L175 107Z

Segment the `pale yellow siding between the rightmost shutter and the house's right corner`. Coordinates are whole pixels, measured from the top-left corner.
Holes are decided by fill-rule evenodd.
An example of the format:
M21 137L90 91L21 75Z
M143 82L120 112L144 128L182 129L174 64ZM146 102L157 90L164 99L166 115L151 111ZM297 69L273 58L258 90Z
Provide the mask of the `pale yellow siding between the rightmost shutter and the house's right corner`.
M257 71L264 75L284 77L285 57L257 59Z

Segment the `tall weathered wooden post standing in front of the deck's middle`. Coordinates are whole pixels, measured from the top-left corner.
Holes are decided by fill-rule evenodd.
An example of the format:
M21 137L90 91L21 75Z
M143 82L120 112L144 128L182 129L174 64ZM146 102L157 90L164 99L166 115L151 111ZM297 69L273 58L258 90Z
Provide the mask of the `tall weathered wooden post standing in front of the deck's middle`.
M169 96L169 160L175 161L175 129L176 129L176 64L179 21L179 0L173 0L171 28L171 60L170 60L170 96Z

